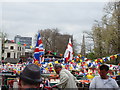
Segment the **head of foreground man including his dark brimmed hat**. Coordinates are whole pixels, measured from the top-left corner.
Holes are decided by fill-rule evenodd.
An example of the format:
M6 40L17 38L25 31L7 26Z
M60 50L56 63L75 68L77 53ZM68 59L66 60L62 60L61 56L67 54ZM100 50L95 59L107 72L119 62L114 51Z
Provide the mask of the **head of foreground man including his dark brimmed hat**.
M40 68L35 64L27 65L18 76L20 88L38 88L42 82Z

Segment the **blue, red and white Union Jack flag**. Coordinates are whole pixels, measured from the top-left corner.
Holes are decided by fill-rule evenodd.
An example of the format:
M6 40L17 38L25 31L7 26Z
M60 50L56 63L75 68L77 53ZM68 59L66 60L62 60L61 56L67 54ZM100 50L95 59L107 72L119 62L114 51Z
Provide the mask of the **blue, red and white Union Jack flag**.
M34 50L34 63L41 63L41 56L44 54L44 48L41 40L40 33L38 33L37 42Z

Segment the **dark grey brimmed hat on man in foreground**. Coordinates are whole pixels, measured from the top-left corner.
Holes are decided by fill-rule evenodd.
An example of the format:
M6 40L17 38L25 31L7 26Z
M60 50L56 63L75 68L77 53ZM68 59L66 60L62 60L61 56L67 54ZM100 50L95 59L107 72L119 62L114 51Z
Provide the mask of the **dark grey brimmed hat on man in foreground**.
M32 82L41 82L41 74L39 66L35 64L27 65L24 70L18 74L18 76L23 80L28 80Z

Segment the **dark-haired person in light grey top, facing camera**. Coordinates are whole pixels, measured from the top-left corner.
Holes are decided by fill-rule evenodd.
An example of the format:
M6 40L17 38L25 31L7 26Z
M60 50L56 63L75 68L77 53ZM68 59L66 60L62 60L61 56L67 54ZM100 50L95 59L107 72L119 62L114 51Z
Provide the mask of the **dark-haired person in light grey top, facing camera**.
M108 71L109 71L109 66L104 65L104 64L101 65L99 67L99 75L100 76L95 76L93 78L92 82L90 83L89 88L92 89L92 90L96 89L96 88L100 88L100 89L104 89L104 88L119 89L119 86L118 86L117 82L114 79L107 76Z

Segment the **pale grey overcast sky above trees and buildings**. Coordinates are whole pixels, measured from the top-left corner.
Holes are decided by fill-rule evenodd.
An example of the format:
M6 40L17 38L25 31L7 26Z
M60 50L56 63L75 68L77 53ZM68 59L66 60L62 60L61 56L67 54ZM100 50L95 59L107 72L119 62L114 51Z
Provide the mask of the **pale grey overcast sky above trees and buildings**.
M34 35L40 29L58 28L81 43L83 31L100 20L107 2L0 2L0 28L14 36Z

